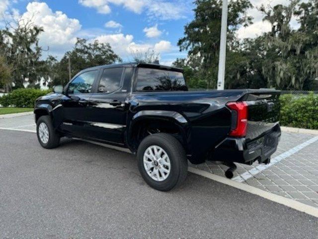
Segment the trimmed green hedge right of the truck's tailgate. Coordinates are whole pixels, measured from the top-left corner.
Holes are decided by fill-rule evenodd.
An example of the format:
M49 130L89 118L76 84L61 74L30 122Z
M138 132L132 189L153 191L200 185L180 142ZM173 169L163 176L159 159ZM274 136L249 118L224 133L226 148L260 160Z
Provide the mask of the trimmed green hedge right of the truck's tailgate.
M281 95L280 124L318 129L318 95Z

